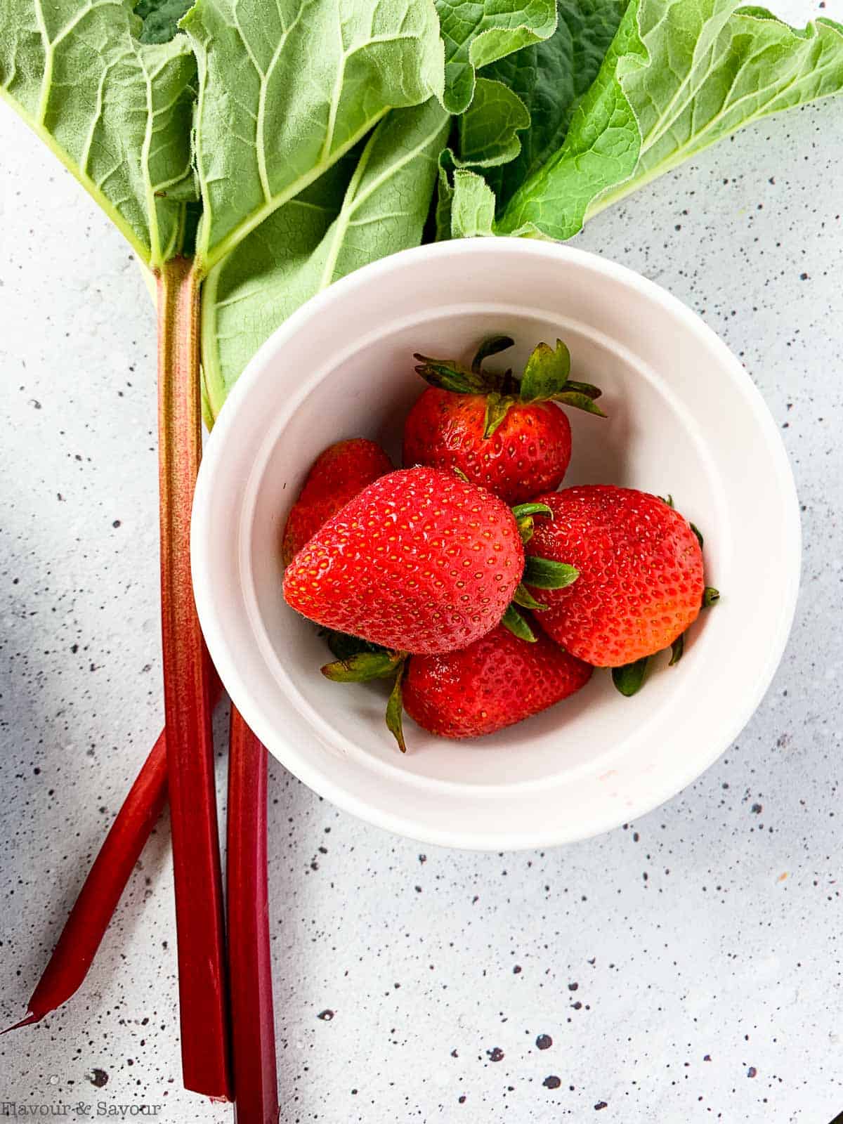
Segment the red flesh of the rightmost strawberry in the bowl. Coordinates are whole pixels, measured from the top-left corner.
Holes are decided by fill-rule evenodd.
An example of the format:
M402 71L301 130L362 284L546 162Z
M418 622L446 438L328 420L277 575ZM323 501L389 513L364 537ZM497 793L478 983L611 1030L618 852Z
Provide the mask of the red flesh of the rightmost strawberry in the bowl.
M556 643L596 667L618 668L669 647L696 620L703 552L691 525L664 500L587 484L537 502L553 519L536 522L527 554L579 570L574 584L545 589L544 563L527 559L524 580L549 606L536 619Z

